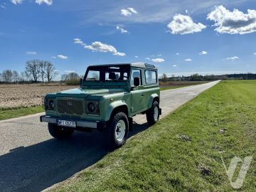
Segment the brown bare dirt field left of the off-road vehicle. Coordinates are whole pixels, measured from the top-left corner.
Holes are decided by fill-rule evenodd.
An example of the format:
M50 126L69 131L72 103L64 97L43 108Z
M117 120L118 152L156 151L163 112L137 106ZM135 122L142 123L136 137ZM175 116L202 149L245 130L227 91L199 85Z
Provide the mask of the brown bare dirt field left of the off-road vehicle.
M42 105L48 92L73 89L78 86L65 85L0 85L0 109L33 107Z

